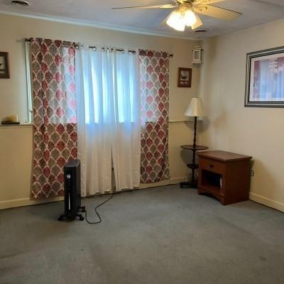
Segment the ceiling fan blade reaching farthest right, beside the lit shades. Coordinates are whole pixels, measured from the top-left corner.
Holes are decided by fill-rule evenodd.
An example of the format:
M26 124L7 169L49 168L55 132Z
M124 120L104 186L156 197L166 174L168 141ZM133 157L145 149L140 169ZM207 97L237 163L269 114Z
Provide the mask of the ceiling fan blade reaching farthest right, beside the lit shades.
M206 9L204 9L206 8ZM198 9L198 7L194 8L195 13L202 13L202 15L220 18L222 20L234 20L234 18L238 18L242 15L242 13L231 11L211 5L206 5L204 8Z

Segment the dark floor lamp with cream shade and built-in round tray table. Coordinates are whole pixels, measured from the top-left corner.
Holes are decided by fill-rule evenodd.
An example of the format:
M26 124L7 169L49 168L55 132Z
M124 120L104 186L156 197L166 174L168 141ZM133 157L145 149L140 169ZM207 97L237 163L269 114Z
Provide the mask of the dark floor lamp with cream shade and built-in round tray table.
M198 165L195 163L195 152L208 149L207 146L200 146L196 143L197 117L205 116L204 107L200 98L192 98L190 105L185 111L185 116L193 116L195 118L193 144L181 146L183 149L192 151L192 163L187 164L187 167L192 170L192 175L191 182L180 182L180 187L197 187L197 182L195 181L195 170L198 169Z

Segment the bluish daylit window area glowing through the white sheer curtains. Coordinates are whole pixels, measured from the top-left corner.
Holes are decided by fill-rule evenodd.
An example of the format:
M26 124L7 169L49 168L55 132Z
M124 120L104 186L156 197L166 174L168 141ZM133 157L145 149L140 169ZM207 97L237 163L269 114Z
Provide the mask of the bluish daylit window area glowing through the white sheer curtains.
M137 121L140 100L136 55L82 50L82 71L76 72L83 77L86 124Z

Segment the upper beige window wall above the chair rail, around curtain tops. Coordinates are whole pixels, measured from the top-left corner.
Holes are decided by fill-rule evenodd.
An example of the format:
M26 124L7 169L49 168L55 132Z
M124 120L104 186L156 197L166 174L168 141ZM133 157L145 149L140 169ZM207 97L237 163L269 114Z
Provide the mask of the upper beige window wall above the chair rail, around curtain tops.
M24 38L42 37L72 40L84 45L114 45L116 47L146 48L173 53L170 59L170 119L184 120L183 111L196 94L199 69L193 70L191 89L177 87L178 67L191 67L190 48L197 41L165 38L153 35L124 33L106 29L76 26L68 23L36 20L0 14L0 50L9 52L10 80L0 80L0 118L18 113L21 121L26 119L26 72Z

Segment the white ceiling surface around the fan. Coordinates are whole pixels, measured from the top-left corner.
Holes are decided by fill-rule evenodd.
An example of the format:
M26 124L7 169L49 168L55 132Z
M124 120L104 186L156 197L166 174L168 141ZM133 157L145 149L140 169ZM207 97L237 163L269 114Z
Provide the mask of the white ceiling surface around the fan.
M168 4L170 0L31 0L29 2L31 5L23 8L11 5L11 0L0 0L0 11L59 18L141 33L185 38L200 37L190 29L180 33L168 26L160 26L160 23L172 11L170 9L111 10L111 7L115 6ZM204 23L203 27L209 28L209 32L202 35L202 38L284 18L284 0L226 0L214 5L239 11L243 15L234 21L221 21L200 15Z

